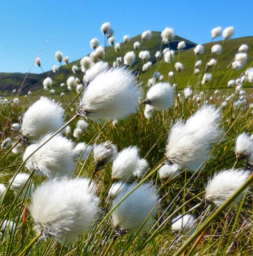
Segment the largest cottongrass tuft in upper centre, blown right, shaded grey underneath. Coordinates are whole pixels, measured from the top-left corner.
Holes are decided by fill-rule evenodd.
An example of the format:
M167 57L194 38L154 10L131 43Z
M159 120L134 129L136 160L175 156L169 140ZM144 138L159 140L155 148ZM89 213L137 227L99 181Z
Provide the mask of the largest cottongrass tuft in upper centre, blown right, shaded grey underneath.
M79 113L94 119L120 119L136 112L141 90L126 68L111 68L98 74L84 91Z

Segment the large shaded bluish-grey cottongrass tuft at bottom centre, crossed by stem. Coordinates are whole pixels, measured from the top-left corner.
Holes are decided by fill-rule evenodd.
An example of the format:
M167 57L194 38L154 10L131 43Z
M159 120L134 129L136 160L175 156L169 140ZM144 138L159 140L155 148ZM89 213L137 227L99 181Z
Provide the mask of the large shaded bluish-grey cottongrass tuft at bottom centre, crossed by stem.
M119 191L112 202L112 207L120 202L136 185L137 183L132 183L126 189ZM119 235L136 233L139 229L141 229L140 233L148 231L157 212L157 202L154 186L143 183L112 212L114 229Z

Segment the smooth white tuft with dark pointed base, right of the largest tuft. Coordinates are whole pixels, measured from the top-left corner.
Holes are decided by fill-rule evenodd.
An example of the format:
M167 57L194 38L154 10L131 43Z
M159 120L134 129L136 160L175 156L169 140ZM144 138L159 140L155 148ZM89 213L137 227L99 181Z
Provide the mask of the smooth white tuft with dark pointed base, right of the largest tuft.
M172 107L173 100L173 87L167 82L159 82L149 88L143 103L151 105L156 110L166 110Z

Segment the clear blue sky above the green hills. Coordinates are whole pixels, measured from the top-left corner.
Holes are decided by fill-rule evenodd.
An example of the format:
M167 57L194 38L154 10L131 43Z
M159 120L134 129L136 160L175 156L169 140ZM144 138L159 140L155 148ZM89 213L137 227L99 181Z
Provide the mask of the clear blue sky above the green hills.
M91 38L103 44L106 21L116 42L165 27L196 43L210 41L217 26L234 26L234 37L253 35L252 0L2 0L0 8L0 72L28 72L49 37L39 56L44 70L57 64L58 50L79 59L91 51ZM40 73L39 67L31 72Z

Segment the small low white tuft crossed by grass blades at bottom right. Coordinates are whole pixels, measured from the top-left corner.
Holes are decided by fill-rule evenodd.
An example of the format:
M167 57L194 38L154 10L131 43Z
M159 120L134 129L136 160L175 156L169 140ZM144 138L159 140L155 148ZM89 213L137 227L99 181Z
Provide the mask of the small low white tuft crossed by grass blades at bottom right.
M178 233L182 230L183 233L187 233L191 236L196 229L196 220L193 215L179 215L175 217L172 222L174 222L171 226L173 232Z

